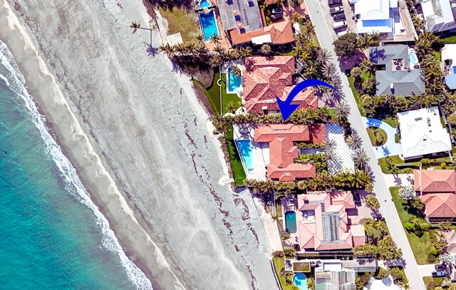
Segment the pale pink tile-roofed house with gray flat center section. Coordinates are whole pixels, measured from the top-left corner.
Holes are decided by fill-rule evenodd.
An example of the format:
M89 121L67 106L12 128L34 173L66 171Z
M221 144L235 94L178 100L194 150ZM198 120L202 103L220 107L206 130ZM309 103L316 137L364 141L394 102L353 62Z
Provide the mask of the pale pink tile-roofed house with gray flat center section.
M346 212L355 207L351 192L298 195L299 248L325 251L365 244L363 225L351 224Z

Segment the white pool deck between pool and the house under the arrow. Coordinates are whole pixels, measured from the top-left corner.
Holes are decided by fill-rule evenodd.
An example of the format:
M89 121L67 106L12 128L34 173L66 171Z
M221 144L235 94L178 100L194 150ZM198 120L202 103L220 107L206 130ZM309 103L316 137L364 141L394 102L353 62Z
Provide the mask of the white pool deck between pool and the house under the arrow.
M254 159L254 173L246 172L247 178L254 180L266 180L266 166L269 164L269 143L254 142L254 128L243 125L242 130L247 130L247 134L239 132L239 126L233 125L234 139L250 140L253 146L252 158ZM245 168L244 168L245 170Z

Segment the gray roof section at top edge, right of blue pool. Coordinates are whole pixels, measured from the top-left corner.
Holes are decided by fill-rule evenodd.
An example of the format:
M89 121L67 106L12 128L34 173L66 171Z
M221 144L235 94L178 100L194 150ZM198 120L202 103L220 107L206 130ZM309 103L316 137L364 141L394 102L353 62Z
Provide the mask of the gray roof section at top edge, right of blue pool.
M229 4L232 3L232 4ZM261 15L259 14L258 1L252 0L219 0L217 1L222 25L225 31L237 29L237 24L244 26L246 32L263 28ZM234 19L233 11L237 11L240 20Z

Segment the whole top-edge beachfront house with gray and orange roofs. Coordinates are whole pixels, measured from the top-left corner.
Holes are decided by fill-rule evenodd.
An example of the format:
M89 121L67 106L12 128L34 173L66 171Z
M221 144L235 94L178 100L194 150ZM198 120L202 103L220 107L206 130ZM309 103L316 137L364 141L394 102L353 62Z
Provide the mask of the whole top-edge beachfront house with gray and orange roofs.
M264 14L258 1L225 0L218 1L220 18L224 31L233 46L253 43L286 44L294 41L291 21L281 21L266 26Z

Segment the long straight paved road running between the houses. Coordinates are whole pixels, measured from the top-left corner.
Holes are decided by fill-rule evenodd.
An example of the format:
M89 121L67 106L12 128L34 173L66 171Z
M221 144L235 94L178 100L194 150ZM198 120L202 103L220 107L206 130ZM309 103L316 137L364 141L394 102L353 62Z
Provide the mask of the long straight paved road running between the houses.
M333 38L331 37L332 33L326 23L326 19L323 16L323 11L321 10L320 1L326 0L305 0L306 6L309 11L309 16L311 17L312 23L315 25L316 36L318 41L323 48L327 48L333 54L331 62L335 63L339 68L339 62L336 58L336 53L334 53ZM331 28L332 29L332 28ZM420 271L418 270L418 265L413 256L412 249L410 244L408 244L408 239L405 236L403 226L400 222L398 212L396 212L393 200L391 199L390 191L386 185L383 174L378 166L373 147L371 146L371 140L369 140L366 129L363 125L363 120L361 119L361 114L356 106L355 98L351 92L351 88L348 84L348 79L345 74L338 69L338 75L341 77L342 86L341 94L342 97L346 100L348 105L351 107L351 115L348 116L348 121L350 121L351 126L356 130L363 140L363 145L366 149L368 157L371 158L369 165L371 166L371 174L374 184L374 192L377 195L378 201L380 202L381 210L383 217L385 217L386 224L390 229L391 236L393 237L398 247L403 251L403 260L405 263L405 274L408 276L410 281L410 286L413 290L425 290L425 284L421 278Z

